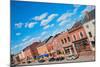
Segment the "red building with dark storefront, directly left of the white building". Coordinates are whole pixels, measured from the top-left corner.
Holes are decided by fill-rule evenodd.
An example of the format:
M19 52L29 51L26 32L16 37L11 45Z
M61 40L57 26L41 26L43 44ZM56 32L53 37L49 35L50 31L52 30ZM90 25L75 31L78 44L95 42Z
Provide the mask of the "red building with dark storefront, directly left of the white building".
M90 44L86 32L81 24L81 21L76 22L71 29L68 30L70 40L74 43L77 52L90 50Z

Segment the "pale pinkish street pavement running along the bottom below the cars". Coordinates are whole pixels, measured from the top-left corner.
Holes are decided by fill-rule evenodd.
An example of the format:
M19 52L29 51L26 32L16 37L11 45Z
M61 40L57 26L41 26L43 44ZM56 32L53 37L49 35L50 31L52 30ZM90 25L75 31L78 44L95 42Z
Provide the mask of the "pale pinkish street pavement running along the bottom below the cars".
M89 54L89 52L85 52L85 54ZM49 62L49 61L46 61L46 62L43 62L43 63L38 63L38 62L35 62L35 63L30 63L30 64L20 64L20 65L18 65L18 66L24 66L24 65L43 65L43 64L54 64L54 63L56 63L56 64L61 64L61 63L76 63L76 62L89 62L89 61L95 61L95 53L94 52L92 52L92 53L90 53L89 55L81 55L81 54L84 54L84 52L83 53L80 53L80 56L77 58L77 59L75 59L75 60L66 60L66 59L64 59L64 60L62 60L62 61L53 61L53 62Z

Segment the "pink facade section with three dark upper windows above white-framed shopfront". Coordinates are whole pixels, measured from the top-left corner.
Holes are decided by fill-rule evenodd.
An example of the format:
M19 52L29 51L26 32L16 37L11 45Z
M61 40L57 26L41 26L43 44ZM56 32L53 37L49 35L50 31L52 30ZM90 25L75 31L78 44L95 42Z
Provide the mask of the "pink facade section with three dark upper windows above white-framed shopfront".
M71 54L77 55L75 46L74 46L74 44L71 41L70 34L68 33L68 31L63 32L60 35L59 39L61 41L61 46L63 48L62 50L63 50L65 56L68 56L68 55L71 55Z

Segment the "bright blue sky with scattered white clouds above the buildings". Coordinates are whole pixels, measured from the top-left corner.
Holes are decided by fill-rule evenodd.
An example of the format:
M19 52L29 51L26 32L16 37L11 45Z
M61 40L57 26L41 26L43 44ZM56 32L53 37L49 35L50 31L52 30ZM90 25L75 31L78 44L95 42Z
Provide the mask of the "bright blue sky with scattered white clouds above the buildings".
M66 31L92 5L11 1L11 53Z

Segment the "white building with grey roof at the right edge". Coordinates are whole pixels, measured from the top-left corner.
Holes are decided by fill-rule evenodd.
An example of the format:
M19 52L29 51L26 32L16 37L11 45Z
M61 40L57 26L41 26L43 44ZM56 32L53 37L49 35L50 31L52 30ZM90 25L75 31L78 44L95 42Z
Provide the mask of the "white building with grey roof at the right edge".
M90 12L86 12L83 20L83 27L86 31L88 40L90 42L90 48L95 50L95 9Z

